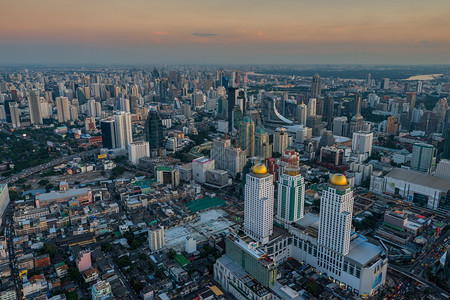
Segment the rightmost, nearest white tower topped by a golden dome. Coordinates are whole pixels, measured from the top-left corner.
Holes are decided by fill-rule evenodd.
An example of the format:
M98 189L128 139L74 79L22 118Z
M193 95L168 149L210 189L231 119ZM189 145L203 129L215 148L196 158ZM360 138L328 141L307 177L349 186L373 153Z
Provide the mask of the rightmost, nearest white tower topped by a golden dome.
M333 175L320 201L319 266L341 275L344 256L350 249L353 190L342 174Z

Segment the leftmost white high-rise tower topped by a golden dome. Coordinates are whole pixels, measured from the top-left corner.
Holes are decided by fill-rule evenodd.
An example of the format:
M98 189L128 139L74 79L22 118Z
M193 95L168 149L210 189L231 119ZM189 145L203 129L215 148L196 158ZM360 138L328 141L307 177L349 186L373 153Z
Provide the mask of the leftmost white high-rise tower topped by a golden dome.
M244 191L244 231L262 244L273 233L273 175L264 165L256 165L247 174Z

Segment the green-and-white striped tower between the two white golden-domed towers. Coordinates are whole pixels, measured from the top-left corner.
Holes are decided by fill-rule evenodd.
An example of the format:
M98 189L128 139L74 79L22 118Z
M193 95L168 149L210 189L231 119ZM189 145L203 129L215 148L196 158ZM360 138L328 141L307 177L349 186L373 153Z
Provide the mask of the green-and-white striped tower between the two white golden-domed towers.
M305 205L305 183L298 167L286 167L278 180L278 201L276 218L290 224L303 218Z

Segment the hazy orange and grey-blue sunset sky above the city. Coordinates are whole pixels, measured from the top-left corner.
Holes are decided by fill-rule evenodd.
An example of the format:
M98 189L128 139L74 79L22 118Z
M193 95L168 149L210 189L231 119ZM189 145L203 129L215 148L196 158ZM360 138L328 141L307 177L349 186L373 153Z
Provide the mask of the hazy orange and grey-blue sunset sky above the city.
M0 0L0 64L449 64L449 0Z

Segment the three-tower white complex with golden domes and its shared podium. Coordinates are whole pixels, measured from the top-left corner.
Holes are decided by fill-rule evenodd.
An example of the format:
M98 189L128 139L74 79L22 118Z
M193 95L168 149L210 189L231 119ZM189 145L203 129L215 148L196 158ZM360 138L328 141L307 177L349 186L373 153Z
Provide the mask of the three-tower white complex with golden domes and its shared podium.
M264 165L247 174L243 232L232 231L227 238L227 254L216 263L216 280L230 293L242 293L248 285L236 271L242 268L275 295L276 266L294 258L357 295L376 293L385 281L387 257L380 246L352 231L353 189L346 177L333 175L326 184L319 216L304 214L305 184L298 163L282 170L276 204L273 182ZM259 299L252 289L248 293Z

